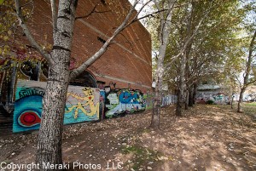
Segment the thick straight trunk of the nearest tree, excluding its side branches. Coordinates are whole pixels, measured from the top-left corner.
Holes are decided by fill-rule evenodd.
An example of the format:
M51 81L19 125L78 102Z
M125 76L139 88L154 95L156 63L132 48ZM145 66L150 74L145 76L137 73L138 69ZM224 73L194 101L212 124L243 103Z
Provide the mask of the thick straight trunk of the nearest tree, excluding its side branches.
M38 134L36 162L40 170L43 163L61 164L61 140L63 115L69 84L69 64L73 39L76 1L59 3L57 28L54 30L54 46L51 53L53 66L49 66L49 77L43 99L42 121Z

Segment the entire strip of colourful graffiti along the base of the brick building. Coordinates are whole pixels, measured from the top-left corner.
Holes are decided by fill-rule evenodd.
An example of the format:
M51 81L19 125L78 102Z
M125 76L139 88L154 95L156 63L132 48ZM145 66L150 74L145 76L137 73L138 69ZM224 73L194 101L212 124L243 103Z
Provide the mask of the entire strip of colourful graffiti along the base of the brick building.
M42 100L46 83L18 80L15 92L13 132L38 129L41 123ZM176 96L163 94L162 106L175 103ZM149 90L103 89L69 85L64 124L102 120L122 113L149 110L154 94Z

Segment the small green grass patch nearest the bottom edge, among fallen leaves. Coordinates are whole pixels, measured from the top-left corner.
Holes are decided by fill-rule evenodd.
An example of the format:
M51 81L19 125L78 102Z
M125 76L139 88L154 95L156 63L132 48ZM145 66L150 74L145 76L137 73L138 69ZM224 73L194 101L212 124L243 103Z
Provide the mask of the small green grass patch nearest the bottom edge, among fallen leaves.
M147 168L146 166L159 161L160 152L152 151L141 146L126 146L122 149L123 154L132 154L131 160L125 162L125 166L129 166L134 170L139 168Z

